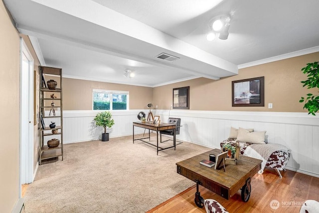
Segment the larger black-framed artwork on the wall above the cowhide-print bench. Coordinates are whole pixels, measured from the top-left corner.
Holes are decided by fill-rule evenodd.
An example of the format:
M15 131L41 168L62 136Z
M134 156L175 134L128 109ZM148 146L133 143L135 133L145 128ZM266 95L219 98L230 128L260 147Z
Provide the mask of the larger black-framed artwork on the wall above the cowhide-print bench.
M264 76L232 81L232 106L265 106Z

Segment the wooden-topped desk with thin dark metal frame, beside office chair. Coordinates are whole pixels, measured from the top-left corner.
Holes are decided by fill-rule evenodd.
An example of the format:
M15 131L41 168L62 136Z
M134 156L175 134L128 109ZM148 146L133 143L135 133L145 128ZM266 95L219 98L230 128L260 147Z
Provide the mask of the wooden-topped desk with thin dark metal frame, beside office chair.
M144 143L148 143L152 146L155 146L154 144L151 144L147 141L144 141L143 139L147 139L147 138L140 138L140 139L134 139L134 127L141 127L141 128L145 128L149 130L149 137L148 139L150 140L150 130L156 131L156 138L157 138L157 155L159 155L159 151L165 150L165 149L169 149L174 147L174 150L176 150L176 125L175 124L165 124L165 123L160 123L159 126L156 126L153 123L150 122L146 122L146 123L141 123L141 122L133 122L133 144L135 140L140 140L143 141ZM159 131L163 131L163 130L169 130L172 129L174 131L173 134L173 146L171 147L166 147L166 148L160 148L159 147Z

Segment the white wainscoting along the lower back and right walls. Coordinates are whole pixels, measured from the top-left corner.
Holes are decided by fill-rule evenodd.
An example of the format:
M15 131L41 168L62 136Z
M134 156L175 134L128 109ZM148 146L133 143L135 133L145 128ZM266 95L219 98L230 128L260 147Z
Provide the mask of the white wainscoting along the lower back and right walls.
M139 121L137 114L148 110L112 111L115 125L110 137L132 135L132 122ZM319 115L286 112L235 112L195 110L152 110L161 122L169 117L181 118L179 140L219 148L229 136L230 127L266 130L266 141L285 145L292 150L287 169L319 177ZM97 112L63 111L63 136L65 143L96 140L102 133L93 119ZM144 129L135 128L136 133ZM176 148L178 150L178 148Z

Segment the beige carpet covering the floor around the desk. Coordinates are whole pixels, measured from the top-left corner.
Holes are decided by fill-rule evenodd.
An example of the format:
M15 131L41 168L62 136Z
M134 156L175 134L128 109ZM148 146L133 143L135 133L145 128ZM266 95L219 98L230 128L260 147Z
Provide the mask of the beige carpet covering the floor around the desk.
M175 163L208 150L183 142L157 156L156 147L133 144L132 136L65 144L64 161L39 166L25 212L147 212L194 185L176 173Z

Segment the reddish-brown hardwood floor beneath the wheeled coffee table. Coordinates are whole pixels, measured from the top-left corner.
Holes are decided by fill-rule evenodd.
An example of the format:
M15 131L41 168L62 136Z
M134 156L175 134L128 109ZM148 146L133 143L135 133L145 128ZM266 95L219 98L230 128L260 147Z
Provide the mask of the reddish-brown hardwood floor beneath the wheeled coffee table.
M230 213L299 213L306 200L319 201L319 178L287 170L279 178L275 170L266 168L264 174L256 174L252 179L252 191L247 203L241 200L240 191L226 200L219 195L199 186L204 199L218 201ZM148 213L205 213L194 203L196 185L162 203ZM278 201L275 209L272 201ZM276 204L276 202L273 202Z

